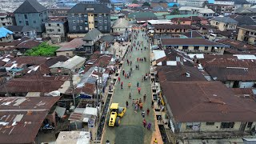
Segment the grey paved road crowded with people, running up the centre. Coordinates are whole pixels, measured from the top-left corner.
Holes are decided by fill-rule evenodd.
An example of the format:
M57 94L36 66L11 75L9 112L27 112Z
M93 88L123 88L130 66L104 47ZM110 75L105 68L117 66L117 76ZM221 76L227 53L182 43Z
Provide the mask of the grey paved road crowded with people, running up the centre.
M142 74L149 73L150 71L150 50L148 48L148 42L146 41L145 36L142 37L142 31L140 30L140 33L138 36L136 36L137 40L143 43L143 46L146 46L147 49L141 51L141 50L135 50L135 47L133 51L131 52L131 58L130 54L127 55L126 58L132 61L132 67L134 69L133 73L131 74L131 78L125 79L122 74L120 74L121 82L123 82L123 90L121 90L120 84L117 84L115 90L114 90L114 96L112 98L112 102L118 102L119 106L126 106L126 101L129 102L129 107L126 110L125 116L121 119L121 124L118 127L109 127L108 125L105 126L105 130L103 132L103 143L106 142L106 140L110 140L110 143L119 144L120 141L117 141L116 137L120 137L120 130L121 132L124 132L124 134L130 134L134 133L135 135L144 136L143 142L139 143L145 143L149 144L151 142L152 133L154 131L154 114L153 110L151 109L151 100L152 100L152 94L151 94L151 87L150 87L150 78L146 82L142 82ZM133 39L134 42L134 39ZM132 43L133 43L132 42ZM137 42L137 41L136 41ZM141 46L142 47L142 46ZM137 58L144 58L146 57L147 62L137 62ZM139 64L140 70L135 70L135 65ZM127 62L125 61L125 65L122 67L123 70L128 71L130 70L131 66L128 66ZM128 88L128 82L131 83L131 88ZM139 86L141 86L141 94L138 94L137 90L137 82L139 82ZM131 93L132 99L133 98L142 98L144 94L146 94L146 102L143 102L143 109L146 110L147 108L150 108L150 114L146 115L146 122L151 122L153 125L151 126L152 130L147 130L142 126L142 110L139 110L138 113L134 113L134 107L131 106L132 100L128 98L129 93ZM139 130L135 130L133 127L138 128L139 130L142 130L141 132L138 132ZM142 134L136 134L142 133ZM121 138L124 138L125 143L134 143L134 139L130 138L129 136L121 136ZM127 142L128 138L128 142ZM134 137L135 138L135 137ZM143 137L142 137L143 138ZM130 140L129 140L130 139ZM120 140L120 139L119 139ZM135 138L136 140L136 138ZM139 144L136 142L136 144ZM124 143L123 143L124 144Z

